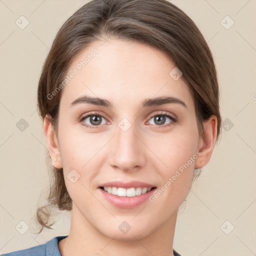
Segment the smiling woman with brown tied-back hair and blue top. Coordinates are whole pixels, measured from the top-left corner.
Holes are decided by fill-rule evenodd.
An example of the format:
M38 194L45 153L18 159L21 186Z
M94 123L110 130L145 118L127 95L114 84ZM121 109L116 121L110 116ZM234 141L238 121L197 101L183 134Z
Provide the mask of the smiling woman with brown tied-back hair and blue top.
M8 255L180 255L178 208L221 123L194 22L166 0L92 0L58 31L37 99L54 166L37 220L72 209L70 232Z

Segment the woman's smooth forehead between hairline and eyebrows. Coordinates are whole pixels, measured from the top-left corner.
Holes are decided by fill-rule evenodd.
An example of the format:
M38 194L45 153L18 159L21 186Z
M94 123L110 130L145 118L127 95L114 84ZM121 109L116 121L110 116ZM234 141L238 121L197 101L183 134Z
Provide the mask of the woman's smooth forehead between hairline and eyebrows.
M90 95L106 98L119 107L167 95L193 108L183 77L174 80L170 75L173 68L171 59L151 46L120 39L95 41L69 64L60 104L68 107L76 98Z

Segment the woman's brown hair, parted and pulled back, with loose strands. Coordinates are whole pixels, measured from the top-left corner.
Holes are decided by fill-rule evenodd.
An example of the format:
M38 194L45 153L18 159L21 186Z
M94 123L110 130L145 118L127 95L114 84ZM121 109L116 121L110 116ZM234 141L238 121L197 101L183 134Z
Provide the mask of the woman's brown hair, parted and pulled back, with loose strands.
M203 122L215 115L218 140L219 88L211 51L195 23L167 0L92 0L64 22L44 61L37 90L38 114L42 119L49 116L56 134L62 90L51 99L47 95L65 79L69 64L81 51L93 41L109 37L141 42L164 52L182 71L192 93L199 135L204 137ZM48 151L47 156L49 160ZM51 166L51 174L47 204L36 210L36 221L41 226L38 233L43 227L52 229L53 223L48 224L52 207L72 209L63 169ZM194 171L194 177L199 174Z

